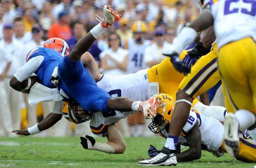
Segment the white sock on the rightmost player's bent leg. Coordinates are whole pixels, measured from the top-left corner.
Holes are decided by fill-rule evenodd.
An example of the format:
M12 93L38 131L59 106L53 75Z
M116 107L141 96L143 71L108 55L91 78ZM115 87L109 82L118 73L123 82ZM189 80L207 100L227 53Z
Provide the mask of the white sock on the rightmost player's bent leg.
M255 115L248 110L241 109L235 113L240 129L250 128L256 121Z

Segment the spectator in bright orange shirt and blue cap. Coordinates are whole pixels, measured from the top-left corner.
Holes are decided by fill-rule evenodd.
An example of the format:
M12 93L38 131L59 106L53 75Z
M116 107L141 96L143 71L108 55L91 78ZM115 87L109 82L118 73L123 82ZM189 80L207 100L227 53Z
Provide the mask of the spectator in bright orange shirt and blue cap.
M72 36L72 31L69 26L70 18L67 12L61 12L59 14L58 23L53 23L49 30L49 38L58 37L63 40L69 39Z

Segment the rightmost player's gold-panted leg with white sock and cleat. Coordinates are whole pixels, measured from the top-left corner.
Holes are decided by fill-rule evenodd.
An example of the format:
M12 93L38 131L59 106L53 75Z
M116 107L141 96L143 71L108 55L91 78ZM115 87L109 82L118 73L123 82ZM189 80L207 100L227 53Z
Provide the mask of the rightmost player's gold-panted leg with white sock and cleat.
M233 109L237 110L228 111L235 114L227 113L225 116L225 149L235 156L238 154L239 145L238 127L255 128L256 93L253 83L256 78L255 55L256 45L251 38L229 43L220 48L219 52L219 70L227 96Z

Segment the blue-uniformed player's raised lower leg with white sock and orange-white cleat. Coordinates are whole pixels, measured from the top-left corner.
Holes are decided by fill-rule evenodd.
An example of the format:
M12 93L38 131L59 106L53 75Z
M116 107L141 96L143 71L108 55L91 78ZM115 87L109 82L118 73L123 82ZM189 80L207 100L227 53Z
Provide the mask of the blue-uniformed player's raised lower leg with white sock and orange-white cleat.
M69 59L72 61L78 61L83 53L85 53L94 41L107 29L111 27L115 22L120 19L120 15L117 11L113 10L110 5L105 5L103 8L104 18L100 18L96 15L96 20L100 21L94 28L91 29L89 33L86 34L82 39L80 39L73 50L69 54Z

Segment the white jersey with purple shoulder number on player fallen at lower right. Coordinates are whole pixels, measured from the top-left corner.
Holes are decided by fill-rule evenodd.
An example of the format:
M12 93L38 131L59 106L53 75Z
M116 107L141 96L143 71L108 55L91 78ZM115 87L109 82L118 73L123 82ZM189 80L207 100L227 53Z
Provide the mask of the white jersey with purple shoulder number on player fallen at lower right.
M197 119L197 120L195 120ZM186 143L186 133L193 128L194 124L198 121L198 126L201 132L201 143L207 146L207 150L218 150L224 138L224 125L218 120L212 117L206 117L202 113L196 113L195 110L190 110L188 121L182 129L179 142L181 144ZM165 129L162 131L164 136L168 136L168 132ZM185 135L184 135L185 134Z

